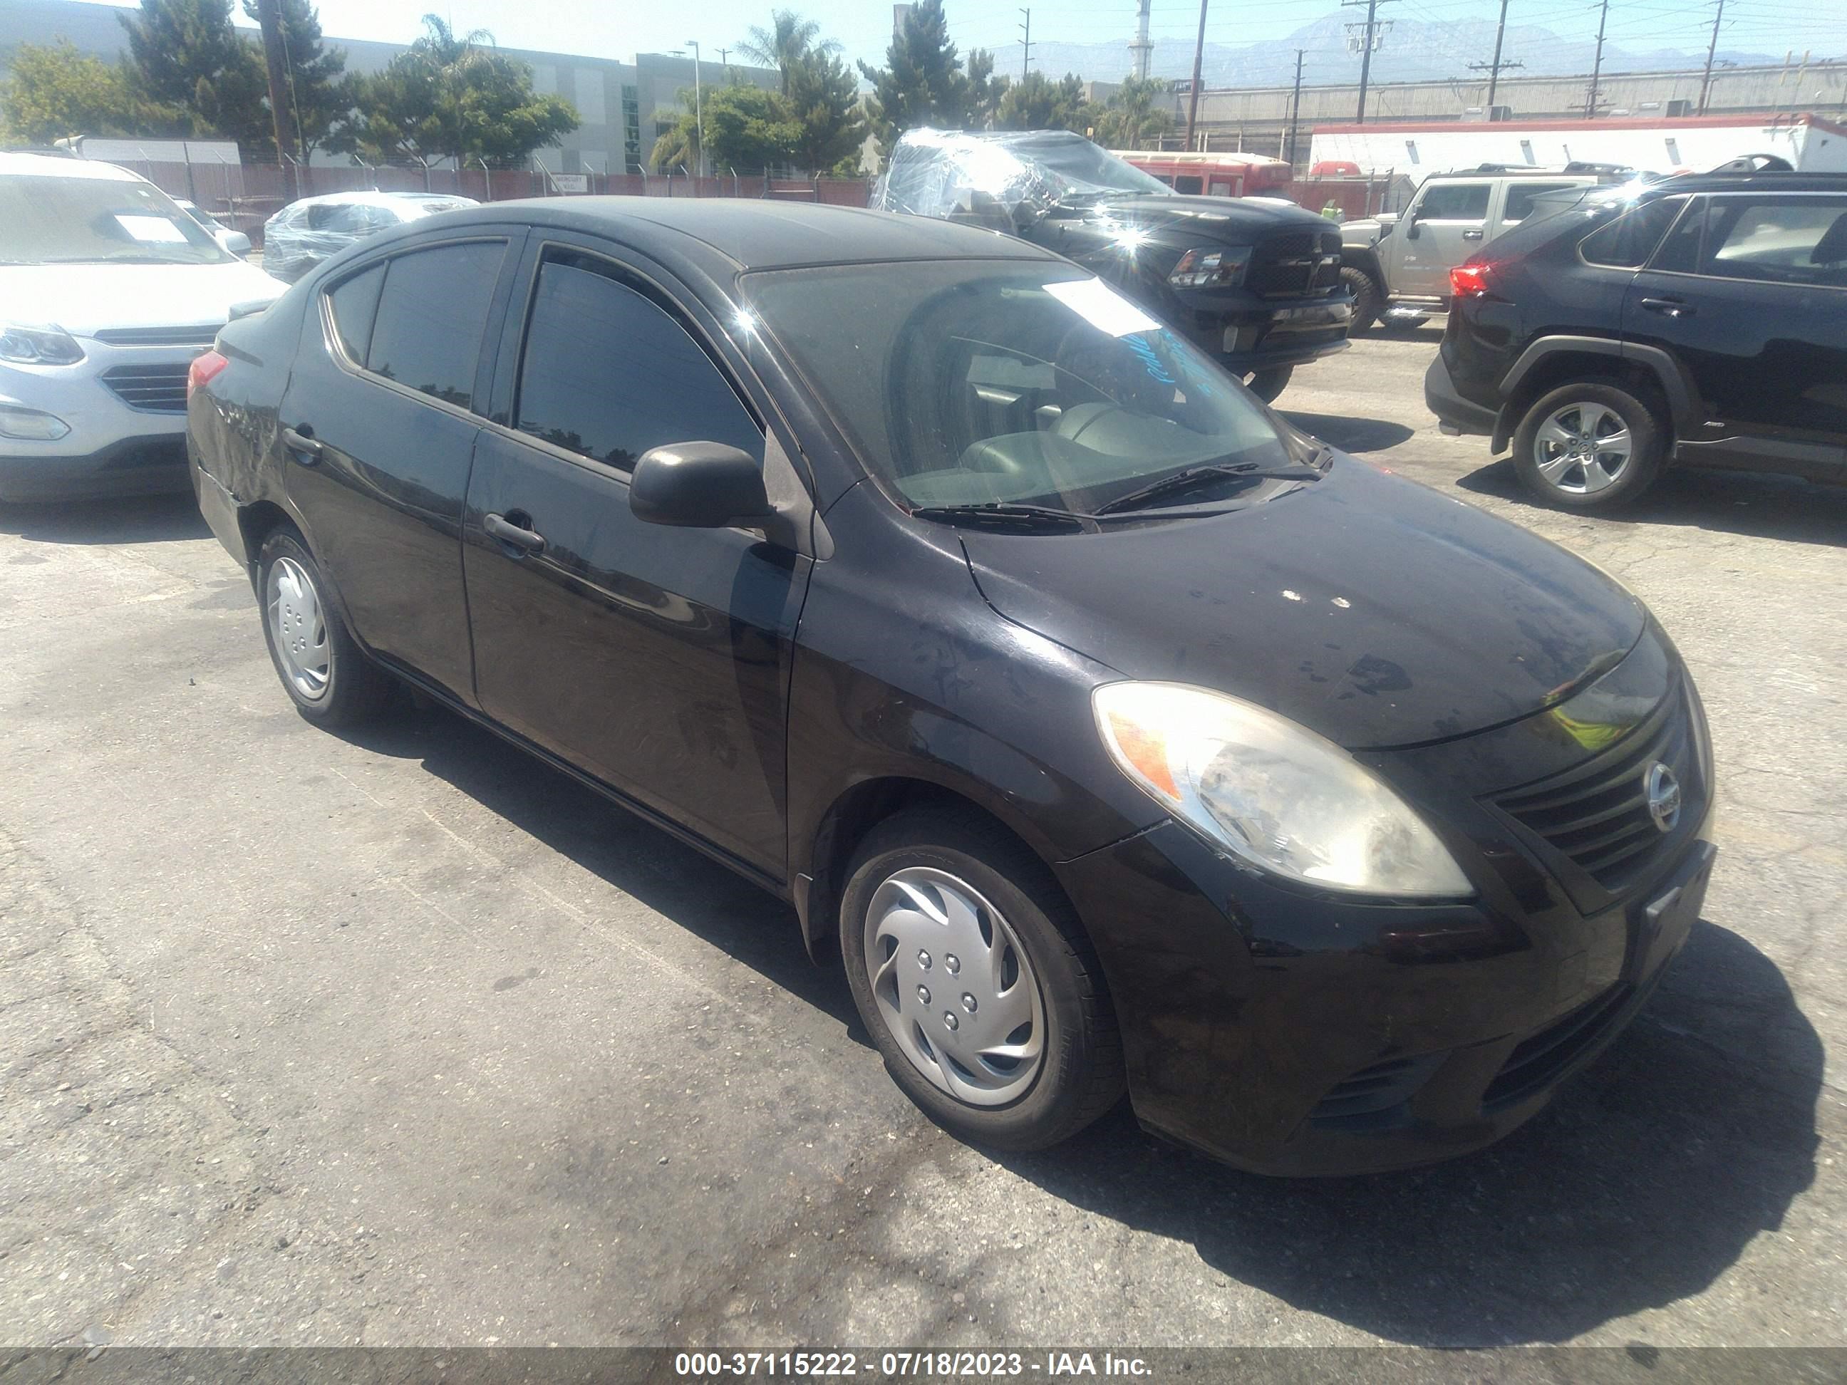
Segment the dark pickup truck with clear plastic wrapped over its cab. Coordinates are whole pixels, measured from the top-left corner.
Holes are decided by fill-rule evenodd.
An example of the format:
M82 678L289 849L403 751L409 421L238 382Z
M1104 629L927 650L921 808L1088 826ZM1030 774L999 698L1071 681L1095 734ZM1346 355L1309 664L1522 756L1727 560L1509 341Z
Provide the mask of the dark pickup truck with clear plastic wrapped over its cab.
M1077 260L1217 356L1263 399L1346 347L1341 233L1271 199L1177 196L1062 129L914 129L872 205L986 225Z

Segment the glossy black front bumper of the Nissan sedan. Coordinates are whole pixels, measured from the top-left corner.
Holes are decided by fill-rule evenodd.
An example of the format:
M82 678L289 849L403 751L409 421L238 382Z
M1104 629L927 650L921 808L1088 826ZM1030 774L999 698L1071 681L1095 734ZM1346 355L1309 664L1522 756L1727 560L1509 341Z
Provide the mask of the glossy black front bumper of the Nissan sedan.
M1143 1126L1265 1174L1430 1163L1511 1132L1624 1030L1699 916L1710 757L1684 822L1612 892L1500 818L1502 790L1476 798L1509 766L1529 783L1587 765L1550 717L1531 722L1372 757L1404 761L1387 777L1457 851L1468 901L1311 894L1177 822L1056 866L1097 945ZM1452 785L1446 822L1431 785Z

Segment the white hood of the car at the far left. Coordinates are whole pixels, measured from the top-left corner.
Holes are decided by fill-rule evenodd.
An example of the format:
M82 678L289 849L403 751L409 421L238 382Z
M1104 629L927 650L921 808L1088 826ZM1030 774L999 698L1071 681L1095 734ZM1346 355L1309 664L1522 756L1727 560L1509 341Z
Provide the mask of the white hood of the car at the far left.
M233 303L281 297L288 284L244 260L229 264L0 266L0 312L72 336L109 327L222 323Z

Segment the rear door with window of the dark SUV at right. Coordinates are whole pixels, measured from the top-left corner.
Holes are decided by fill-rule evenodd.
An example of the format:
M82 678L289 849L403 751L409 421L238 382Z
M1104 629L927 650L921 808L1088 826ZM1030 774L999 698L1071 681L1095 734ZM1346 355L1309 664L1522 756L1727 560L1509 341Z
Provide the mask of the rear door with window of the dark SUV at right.
M1690 449L1834 478L1847 440L1847 194L1729 192L1675 222L1624 299L1624 338L1672 351L1705 410ZM1694 452L1697 456L1697 452Z

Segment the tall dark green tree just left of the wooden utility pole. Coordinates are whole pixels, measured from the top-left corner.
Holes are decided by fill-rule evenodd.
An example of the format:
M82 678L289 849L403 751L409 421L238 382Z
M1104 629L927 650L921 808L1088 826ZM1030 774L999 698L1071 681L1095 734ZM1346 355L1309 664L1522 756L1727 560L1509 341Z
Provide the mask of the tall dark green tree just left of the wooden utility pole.
M244 150L273 150L255 42L231 28L231 0L140 0L118 15L127 31L137 96L151 133L218 135Z

